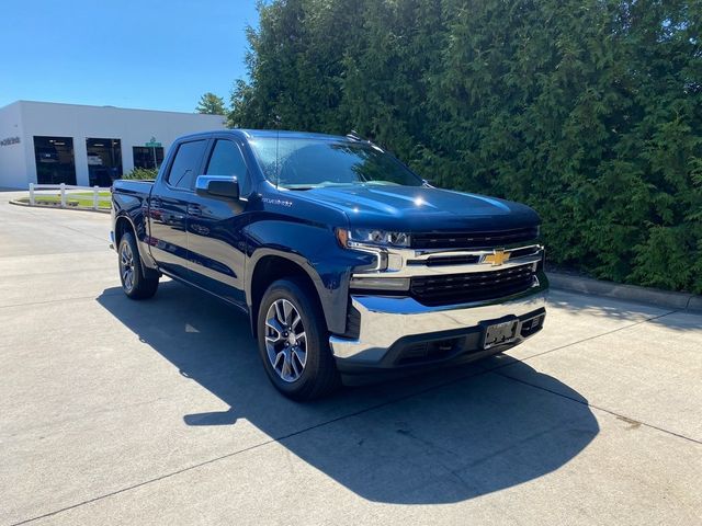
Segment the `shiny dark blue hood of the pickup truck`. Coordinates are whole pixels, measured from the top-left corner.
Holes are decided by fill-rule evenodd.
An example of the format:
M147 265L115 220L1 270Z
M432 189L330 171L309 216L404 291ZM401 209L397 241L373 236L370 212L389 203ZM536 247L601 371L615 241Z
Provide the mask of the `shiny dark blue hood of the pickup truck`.
M295 194L342 210L356 228L508 230L541 222L533 209L519 203L427 186L320 187Z

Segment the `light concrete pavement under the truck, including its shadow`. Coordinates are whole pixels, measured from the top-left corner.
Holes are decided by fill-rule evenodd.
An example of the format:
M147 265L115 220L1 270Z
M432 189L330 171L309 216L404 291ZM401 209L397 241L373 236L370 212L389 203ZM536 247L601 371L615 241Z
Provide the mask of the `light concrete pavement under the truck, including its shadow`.
M297 404L247 320L126 299L0 193L0 524L702 524L702 316L554 291L506 356Z

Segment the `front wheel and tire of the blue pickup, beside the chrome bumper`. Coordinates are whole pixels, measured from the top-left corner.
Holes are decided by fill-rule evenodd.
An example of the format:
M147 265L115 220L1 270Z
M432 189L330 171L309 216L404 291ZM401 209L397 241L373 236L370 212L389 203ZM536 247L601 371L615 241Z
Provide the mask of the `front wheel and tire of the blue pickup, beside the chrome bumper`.
M263 294L258 312L265 373L280 392L299 401L327 396L340 384L324 313L313 295L299 279L280 279Z

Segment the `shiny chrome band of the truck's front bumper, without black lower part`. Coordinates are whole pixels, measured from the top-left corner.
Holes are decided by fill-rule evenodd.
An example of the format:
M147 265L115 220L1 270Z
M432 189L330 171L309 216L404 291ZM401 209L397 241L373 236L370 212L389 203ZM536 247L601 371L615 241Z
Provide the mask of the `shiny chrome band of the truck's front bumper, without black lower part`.
M338 362L373 366L383 362L403 338L475 328L482 321L528 315L546 304L547 281L543 273L539 274L540 285L530 290L475 304L427 307L410 297L351 296L351 304L361 317L359 338L331 336L331 351Z

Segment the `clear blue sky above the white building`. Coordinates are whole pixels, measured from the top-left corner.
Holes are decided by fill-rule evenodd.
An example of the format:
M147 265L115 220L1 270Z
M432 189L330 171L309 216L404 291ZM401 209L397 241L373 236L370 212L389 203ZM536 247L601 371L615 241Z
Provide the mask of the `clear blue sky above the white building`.
M256 0L11 0L0 107L16 100L192 112L246 76Z

